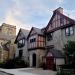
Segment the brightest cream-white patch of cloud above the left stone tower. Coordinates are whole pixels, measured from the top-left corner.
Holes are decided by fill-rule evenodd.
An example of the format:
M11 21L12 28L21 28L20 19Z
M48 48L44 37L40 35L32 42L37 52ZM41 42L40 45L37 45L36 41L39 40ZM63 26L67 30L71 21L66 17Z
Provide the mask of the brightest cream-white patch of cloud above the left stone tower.
M16 13L16 14L19 15L18 13ZM18 33L18 31L19 31L20 28L24 28L24 29L28 29L28 30L30 29L30 27L28 27L29 25L24 24L21 21L19 21L16 18L14 18L13 12L11 10L9 10L6 13L5 23L11 24L11 25L15 25L17 27L17 33Z

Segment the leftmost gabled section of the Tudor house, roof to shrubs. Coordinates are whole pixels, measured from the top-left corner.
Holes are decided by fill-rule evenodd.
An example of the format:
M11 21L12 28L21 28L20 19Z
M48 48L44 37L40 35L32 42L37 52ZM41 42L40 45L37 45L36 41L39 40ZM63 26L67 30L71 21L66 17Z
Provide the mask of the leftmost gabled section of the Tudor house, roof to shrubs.
M29 34L28 30L20 29L18 35L15 40L15 44L17 44L17 49L15 53L15 57L20 57L28 62L28 50L27 50L27 36Z

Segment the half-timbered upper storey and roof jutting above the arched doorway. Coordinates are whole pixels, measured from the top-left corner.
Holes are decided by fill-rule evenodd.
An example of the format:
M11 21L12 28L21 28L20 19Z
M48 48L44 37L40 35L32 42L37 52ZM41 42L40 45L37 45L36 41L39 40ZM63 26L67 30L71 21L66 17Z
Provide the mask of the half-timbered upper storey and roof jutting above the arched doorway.
M45 37L41 29L32 27L28 35L28 49L43 48L45 46Z

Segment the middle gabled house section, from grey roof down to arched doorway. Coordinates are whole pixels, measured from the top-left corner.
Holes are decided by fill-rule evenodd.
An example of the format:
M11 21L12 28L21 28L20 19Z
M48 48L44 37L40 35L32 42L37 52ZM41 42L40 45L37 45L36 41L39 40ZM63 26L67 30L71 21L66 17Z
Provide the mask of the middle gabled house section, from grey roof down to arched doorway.
M45 55L45 36L41 29L32 27L28 35L30 67L38 67Z

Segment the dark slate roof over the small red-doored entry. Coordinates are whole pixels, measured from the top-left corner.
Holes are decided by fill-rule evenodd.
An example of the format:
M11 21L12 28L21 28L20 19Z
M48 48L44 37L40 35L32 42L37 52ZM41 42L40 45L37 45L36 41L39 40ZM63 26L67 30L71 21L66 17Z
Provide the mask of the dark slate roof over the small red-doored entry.
M52 53L54 58L64 58L64 54L60 50L56 50L56 49L48 50L46 56L49 52Z

